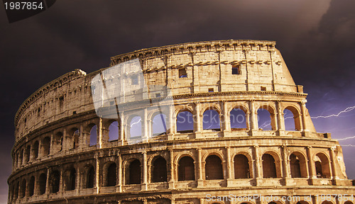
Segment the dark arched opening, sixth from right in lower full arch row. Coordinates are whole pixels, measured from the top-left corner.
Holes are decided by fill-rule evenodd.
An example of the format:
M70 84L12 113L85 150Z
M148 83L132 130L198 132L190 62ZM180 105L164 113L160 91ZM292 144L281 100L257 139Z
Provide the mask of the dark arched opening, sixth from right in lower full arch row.
M182 157L178 164L178 181L194 181L195 165L191 157Z

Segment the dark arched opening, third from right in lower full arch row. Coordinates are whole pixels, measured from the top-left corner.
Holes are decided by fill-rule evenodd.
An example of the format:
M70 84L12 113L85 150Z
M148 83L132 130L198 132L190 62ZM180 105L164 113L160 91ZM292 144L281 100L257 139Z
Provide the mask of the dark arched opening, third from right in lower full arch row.
M265 152L261 157L263 164L263 178L280 178L280 157L275 152Z

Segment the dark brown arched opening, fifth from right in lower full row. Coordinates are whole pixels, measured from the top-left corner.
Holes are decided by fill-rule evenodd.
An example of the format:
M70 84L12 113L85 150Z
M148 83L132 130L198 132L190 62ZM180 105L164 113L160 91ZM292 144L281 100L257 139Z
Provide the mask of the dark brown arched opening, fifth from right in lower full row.
M222 160L217 155L209 155L204 166L206 180L223 179Z

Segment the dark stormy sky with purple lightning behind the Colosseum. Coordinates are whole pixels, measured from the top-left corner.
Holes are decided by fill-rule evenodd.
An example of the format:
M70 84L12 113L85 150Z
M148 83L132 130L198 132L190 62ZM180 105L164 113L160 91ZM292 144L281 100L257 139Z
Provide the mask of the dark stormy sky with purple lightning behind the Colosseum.
M275 40L295 83L310 94L312 116L355 106L354 8L354 0L59 0L9 24L1 7L0 202L7 199L13 117L21 103L62 74L108 67L109 57L121 53L202 40ZM313 121L333 138L355 135L355 110ZM339 142L355 145L355 139ZM355 179L355 147L343 150Z

